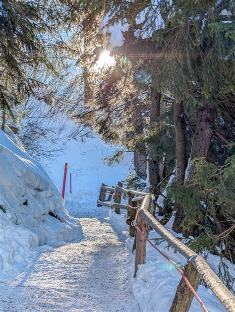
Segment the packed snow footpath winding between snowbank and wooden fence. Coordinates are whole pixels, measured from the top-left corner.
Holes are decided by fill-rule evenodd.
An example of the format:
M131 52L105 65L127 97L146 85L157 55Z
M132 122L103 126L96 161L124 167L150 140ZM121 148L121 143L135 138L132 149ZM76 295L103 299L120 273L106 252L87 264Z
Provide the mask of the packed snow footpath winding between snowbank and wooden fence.
M78 209L72 208L84 239L41 253L21 282L1 284L0 311L137 311L128 286L127 228L97 207Z

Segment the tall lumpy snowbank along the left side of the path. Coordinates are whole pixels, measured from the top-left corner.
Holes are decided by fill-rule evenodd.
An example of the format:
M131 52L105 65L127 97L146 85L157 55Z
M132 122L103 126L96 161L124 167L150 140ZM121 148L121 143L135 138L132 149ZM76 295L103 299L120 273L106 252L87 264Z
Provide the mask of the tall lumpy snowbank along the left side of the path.
M42 166L0 130L0 281L22 272L36 247L81 235Z

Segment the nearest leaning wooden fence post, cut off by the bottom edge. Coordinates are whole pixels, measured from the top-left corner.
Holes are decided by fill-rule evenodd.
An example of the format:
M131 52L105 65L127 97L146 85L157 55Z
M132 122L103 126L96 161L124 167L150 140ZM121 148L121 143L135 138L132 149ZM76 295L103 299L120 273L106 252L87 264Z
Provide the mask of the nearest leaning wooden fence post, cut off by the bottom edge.
M194 290L197 291L200 282L200 275L198 274L197 270L194 268L191 262L187 263L183 273L189 283L194 288ZM187 287L184 280L181 278L177 286L176 295L169 312L188 311L191 306L193 297L194 296L192 292Z

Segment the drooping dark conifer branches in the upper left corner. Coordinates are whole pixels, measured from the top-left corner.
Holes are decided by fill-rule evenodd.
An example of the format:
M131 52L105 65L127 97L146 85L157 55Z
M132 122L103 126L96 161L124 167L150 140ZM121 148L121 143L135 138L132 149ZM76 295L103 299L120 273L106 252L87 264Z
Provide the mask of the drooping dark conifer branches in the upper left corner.
M43 85L45 75L58 76L62 50L59 1L5 0L0 6L0 107L6 115ZM13 115L12 115L13 117Z

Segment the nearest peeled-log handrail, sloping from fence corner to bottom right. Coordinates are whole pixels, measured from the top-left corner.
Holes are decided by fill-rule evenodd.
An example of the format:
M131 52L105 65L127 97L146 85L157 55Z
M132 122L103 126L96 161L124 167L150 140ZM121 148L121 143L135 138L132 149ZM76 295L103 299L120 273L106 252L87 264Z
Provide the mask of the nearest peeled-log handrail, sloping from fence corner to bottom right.
M235 297L212 271L206 261L191 250L189 247L177 240L162 224L156 220L148 211L152 198L146 195L139 210L139 215L152 227L167 243L175 250L181 253L186 259L192 262L193 266L199 273L200 277L210 287L215 296L220 300L222 305L229 311L235 311Z

